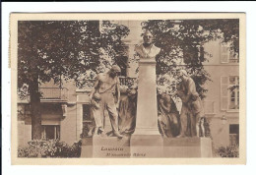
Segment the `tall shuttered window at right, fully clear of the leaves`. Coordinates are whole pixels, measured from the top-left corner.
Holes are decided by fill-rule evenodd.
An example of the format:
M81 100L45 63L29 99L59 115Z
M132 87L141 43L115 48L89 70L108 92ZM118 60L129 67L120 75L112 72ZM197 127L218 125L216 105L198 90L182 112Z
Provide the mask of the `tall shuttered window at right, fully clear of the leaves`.
M239 109L239 77L230 76L221 78L221 109Z

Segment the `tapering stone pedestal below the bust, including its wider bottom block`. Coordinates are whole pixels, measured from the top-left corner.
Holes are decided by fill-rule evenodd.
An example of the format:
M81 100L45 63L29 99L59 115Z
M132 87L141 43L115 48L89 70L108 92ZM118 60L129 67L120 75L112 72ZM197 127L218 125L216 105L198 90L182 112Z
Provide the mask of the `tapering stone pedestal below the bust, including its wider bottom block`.
M156 61L141 59L136 128L131 137L131 156L134 158L161 157L162 145L158 126Z

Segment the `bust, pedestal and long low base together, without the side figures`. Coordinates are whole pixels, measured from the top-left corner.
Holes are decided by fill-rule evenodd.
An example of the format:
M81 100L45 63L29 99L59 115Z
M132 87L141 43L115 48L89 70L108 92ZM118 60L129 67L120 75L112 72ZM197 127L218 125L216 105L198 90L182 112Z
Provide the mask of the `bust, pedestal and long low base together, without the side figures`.
M135 47L139 55L136 127L130 137L100 137L82 140L81 157L211 157L210 138L163 138L158 124L156 56L160 48L146 31L144 43Z

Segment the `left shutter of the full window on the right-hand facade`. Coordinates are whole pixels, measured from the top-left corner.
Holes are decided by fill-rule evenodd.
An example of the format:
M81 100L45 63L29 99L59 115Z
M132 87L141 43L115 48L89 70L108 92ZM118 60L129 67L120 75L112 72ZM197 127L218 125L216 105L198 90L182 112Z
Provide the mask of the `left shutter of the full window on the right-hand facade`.
M228 104L228 77L221 78L221 110L227 109Z

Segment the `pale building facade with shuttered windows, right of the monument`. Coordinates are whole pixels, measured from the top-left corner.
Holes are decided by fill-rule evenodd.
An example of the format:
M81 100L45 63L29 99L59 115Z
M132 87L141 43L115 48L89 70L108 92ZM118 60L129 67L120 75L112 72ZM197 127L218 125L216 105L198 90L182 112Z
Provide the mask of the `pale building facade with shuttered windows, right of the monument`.
M204 46L212 54L204 64L212 82L205 86L205 110L216 147L239 144L239 60L220 40Z

